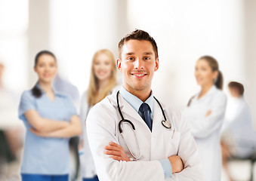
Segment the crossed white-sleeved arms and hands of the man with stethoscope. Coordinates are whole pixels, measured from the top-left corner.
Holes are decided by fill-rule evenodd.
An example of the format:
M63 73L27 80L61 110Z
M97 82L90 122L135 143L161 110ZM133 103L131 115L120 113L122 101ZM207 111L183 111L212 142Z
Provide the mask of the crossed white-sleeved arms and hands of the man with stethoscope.
M86 121L88 142L99 179L104 181L165 180L165 173L160 161L130 161L122 147L115 145L115 143L119 143L116 137L118 118L113 118L113 115L116 115L116 109L111 105L108 106L108 100L105 101L91 109ZM101 109L102 106L105 109ZM203 180L196 143L186 122L180 118L180 114L177 116L177 120L180 120L179 129L182 130L181 139L178 156L168 158L175 173L167 180ZM184 167L183 164L179 164L180 162L184 163ZM180 165L182 165L181 168Z

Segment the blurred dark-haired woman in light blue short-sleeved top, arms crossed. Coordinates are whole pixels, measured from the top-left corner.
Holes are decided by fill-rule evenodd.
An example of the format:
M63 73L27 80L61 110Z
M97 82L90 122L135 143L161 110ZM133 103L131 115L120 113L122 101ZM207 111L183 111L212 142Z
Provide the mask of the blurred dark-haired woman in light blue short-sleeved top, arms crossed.
M52 87L57 62L50 51L35 56L39 81L23 92L19 118L26 127L21 177L23 181L67 181L69 137L82 133L79 116L69 97Z

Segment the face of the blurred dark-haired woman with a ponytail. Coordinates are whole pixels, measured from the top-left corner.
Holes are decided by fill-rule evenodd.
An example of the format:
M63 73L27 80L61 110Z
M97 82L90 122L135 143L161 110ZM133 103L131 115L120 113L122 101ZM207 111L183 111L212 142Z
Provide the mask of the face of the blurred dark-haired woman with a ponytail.
M214 84L214 79L217 78L217 71L213 71L206 60L200 59L196 62L195 77L200 86L210 86Z

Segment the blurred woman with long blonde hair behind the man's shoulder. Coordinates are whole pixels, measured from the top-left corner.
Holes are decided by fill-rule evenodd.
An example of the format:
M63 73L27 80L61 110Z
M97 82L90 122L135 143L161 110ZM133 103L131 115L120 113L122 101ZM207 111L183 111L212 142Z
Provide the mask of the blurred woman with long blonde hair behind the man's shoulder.
M116 61L113 53L107 49L97 51L94 54L91 64L91 77L88 90L85 90L84 94L82 94L80 109L80 119L82 121L83 130L80 163L83 181L98 180L94 160L88 144L86 117L91 107L111 94L116 86Z

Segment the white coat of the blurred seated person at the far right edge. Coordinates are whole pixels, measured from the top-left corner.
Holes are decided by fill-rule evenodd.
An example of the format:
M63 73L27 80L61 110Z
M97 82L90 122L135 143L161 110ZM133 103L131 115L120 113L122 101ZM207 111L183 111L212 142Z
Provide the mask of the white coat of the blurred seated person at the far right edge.
M222 139L233 156L246 158L256 150L256 133L251 112L243 97L232 97L227 103Z

